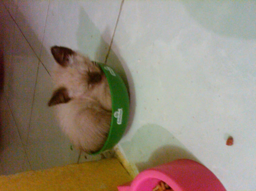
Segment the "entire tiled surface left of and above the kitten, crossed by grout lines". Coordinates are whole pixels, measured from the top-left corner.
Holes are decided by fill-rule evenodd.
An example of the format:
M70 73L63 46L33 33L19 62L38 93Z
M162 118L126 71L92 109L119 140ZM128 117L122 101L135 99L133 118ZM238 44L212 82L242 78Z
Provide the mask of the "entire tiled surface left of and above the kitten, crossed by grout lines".
M104 62L120 4L0 1L1 174L77 163L79 151L71 147L47 106L53 90L50 47L68 46ZM86 159L82 153L80 162L99 159L101 155Z

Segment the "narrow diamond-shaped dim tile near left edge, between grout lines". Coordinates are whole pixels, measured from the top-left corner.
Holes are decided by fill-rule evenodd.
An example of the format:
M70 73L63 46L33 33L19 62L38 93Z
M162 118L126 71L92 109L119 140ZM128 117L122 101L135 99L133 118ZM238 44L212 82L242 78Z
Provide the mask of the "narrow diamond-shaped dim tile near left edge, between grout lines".
M15 26L5 93L24 144L28 134L38 62L35 53Z

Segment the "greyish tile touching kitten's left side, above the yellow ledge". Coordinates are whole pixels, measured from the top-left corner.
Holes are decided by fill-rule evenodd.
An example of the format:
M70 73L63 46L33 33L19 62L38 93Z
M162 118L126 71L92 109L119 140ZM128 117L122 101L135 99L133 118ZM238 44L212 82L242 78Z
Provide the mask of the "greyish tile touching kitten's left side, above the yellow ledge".
M55 122L54 111L47 103L52 94L51 77L39 64L35 99L26 152L33 170L76 163L79 151Z

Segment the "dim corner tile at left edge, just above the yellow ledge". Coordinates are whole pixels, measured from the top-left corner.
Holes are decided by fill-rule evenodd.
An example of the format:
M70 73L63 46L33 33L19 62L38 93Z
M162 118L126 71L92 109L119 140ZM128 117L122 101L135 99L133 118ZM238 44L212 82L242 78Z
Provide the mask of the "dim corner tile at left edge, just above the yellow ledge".
M0 173L31 170L5 96L1 96L0 101Z

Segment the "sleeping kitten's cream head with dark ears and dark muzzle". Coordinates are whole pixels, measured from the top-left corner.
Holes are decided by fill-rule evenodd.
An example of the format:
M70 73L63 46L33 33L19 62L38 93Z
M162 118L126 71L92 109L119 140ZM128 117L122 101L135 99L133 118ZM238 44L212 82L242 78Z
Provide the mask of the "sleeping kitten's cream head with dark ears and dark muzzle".
M102 81L103 71L88 57L58 46L52 47L51 52L57 64L52 74L56 90L48 102L49 106L82 96Z

